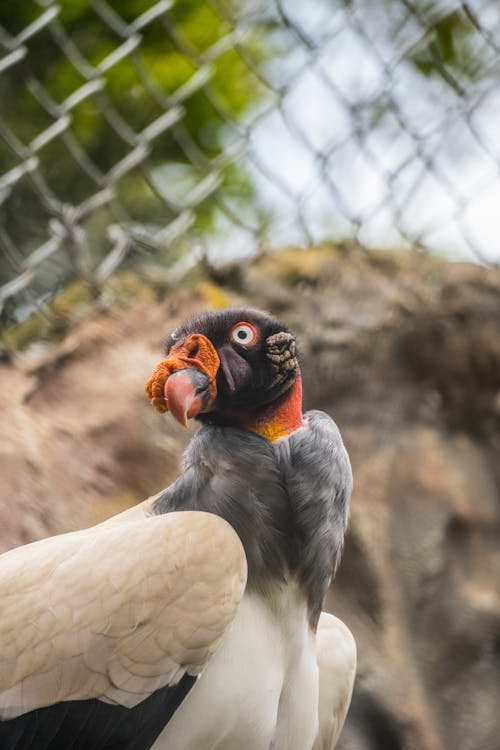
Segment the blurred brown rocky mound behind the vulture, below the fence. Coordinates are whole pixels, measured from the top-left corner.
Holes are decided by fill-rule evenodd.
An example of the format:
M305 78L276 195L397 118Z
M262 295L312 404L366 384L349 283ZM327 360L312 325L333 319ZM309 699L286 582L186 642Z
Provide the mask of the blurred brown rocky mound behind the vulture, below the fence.
M192 273L0 364L0 545L166 485L189 439L143 395L167 332L245 301L299 334L351 455L328 605L359 669L341 750L500 747L500 272L357 248Z

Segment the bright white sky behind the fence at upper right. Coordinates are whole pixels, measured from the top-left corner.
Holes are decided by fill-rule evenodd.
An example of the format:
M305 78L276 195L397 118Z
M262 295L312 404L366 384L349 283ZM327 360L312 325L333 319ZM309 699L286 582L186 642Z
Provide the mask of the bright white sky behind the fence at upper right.
M499 48L473 37L484 71L461 96L405 59L425 34L401 16L402 4L382 18L380 3L355 2L350 12L337 5L284 4L315 50L296 36L290 44L293 28L282 34L284 53L266 76L284 96L250 127L247 166L269 216L269 245L354 234L373 248L415 243L500 262L498 4L475 3ZM458 3L434 5L446 13ZM219 243L219 254L234 252L234 232L246 235L242 254L250 248L251 233L223 218L220 229L227 251Z

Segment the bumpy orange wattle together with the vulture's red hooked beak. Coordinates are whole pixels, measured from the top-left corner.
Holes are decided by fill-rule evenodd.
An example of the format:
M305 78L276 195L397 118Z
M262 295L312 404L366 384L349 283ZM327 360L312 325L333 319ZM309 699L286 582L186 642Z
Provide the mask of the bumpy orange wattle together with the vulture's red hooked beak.
M146 383L149 400L169 411L183 427L187 420L210 411L217 398L215 382L220 360L212 342L194 333L172 347Z

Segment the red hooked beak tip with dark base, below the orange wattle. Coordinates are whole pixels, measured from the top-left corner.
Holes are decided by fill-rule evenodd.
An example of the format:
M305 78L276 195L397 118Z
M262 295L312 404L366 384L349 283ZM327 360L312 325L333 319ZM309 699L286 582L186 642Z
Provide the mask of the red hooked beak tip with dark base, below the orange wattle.
M188 419L206 409L210 399L210 381L200 370L177 370L167 378L164 397L173 418L187 427Z

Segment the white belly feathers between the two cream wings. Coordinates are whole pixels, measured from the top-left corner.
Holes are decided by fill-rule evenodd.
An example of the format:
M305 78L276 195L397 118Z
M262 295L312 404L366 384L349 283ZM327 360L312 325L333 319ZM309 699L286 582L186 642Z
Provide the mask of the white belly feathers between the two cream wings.
M317 731L318 670L295 587L247 595L220 650L155 750L307 750Z

